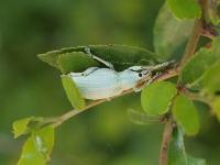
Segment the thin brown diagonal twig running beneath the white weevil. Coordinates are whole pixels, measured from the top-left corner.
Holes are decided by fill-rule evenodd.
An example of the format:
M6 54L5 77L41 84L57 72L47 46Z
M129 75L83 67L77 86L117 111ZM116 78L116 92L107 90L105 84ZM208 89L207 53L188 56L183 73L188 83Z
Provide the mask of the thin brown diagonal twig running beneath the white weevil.
M164 73L163 75L161 75L160 77L157 77L157 78L155 79L155 81L162 81L162 80L165 80L165 79L175 77L175 76L178 75L178 72L177 72L177 70L178 70L178 69L176 69L176 68L172 68L172 69L167 70L166 73ZM133 92L133 89L125 90L125 91L122 92L121 95L116 96L116 97L113 97L113 98L111 98L111 99L114 99L114 98L118 98L118 97L120 97L120 96L124 96L124 95L131 94L131 92ZM95 107L95 106L98 106L98 105L100 105L100 103L102 103L102 102L106 102L106 101L107 101L106 99L103 99L103 100L95 100L95 101L90 102L88 106L86 106L86 107L85 107L84 109L81 109L81 110L74 109L74 110L70 110L70 111L64 113L63 116L53 118L53 122L52 122L52 123L53 123L54 128L57 128L58 125L61 125L61 124L62 124L63 122L65 122L66 120L73 118L73 117L75 117L75 116L77 116L77 114L79 114L79 113L81 113L81 112L84 112L84 111L86 111L86 110L89 110L90 108L92 108L92 107Z

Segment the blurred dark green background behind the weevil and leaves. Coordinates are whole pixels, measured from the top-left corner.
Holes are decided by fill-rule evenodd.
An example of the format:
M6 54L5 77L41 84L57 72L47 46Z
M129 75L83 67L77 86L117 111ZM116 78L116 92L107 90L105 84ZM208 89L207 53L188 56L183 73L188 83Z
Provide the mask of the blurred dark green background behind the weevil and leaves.
M36 54L88 44L127 44L153 51L153 25L163 0L0 0L0 165L14 165L25 138L13 140L11 124L30 116L72 109L58 70ZM178 34L177 34L178 35ZM200 108L201 131L186 150L220 163L220 125ZM156 165L163 125L135 125L129 108L140 95L106 102L56 130L50 165Z

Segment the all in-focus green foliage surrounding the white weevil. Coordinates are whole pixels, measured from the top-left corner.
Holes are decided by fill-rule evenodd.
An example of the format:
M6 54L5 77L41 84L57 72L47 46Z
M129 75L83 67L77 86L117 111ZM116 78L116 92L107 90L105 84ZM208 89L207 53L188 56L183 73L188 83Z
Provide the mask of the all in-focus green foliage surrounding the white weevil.
M84 72L88 67L103 67L102 64L91 58L85 51L86 47L89 47L94 55L111 63L116 72L121 72L135 65L153 66L167 59L177 59L177 63L180 64L177 79L153 81L147 85L141 91L141 106L144 112L136 113L133 111L130 114L131 117L135 116L136 123L142 122L141 118L145 119L145 117L153 116L157 119L165 119L163 122L168 121L175 124L168 147L167 162L169 165L205 165L206 162L202 158L195 158L186 153L184 135L185 133L186 135L197 135L200 129L199 109L195 107L195 100L208 105L217 118L220 119L220 37L215 37L211 41L210 48L201 46L187 62L184 62L184 64L179 62L183 59L180 56L186 41L189 40L188 43L190 44L190 37L194 36L191 30L193 23L196 22L195 20L202 20L205 25L209 24L213 29L219 23L217 8L208 6L208 11L202 11L196 0L167 0L167 3L160 11L154 26L156 53L125 45L89 45L62 48L38 55L40 59L61 70L61 79L67 98L78 111L70 111L70 113L67 112L61 118L57 117L52 120L51 118L30 117L14 121L14 138L28 134L18 164L46 164L53 151L55 128L70 117L92 107L90 106L92 102L81 98L76 84L68 77L69 73ZM207 18L204 18L205 15ZM176 34L179 31L180 34ZM172 69L176 69L175 67L173 66ZM170 68L156 70L157 73L153 74L165 75L168 69Z

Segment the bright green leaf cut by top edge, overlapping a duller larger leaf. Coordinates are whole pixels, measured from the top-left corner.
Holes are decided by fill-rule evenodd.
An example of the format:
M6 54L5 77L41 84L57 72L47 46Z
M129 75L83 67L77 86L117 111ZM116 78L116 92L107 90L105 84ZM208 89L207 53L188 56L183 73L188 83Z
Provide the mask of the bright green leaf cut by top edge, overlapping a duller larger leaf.
M167 0L172 13L179 19L199 19L201 9L197 0Z

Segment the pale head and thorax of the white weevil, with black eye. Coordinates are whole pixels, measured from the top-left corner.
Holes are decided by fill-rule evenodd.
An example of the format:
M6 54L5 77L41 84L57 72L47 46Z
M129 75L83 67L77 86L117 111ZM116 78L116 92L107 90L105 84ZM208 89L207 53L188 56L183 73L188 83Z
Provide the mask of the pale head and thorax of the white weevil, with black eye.
M119 73L121 87L123 88L123 90L134 88L143 78L151 76L151 72L147 69L136 69L140 67L141 66L133 66Z

